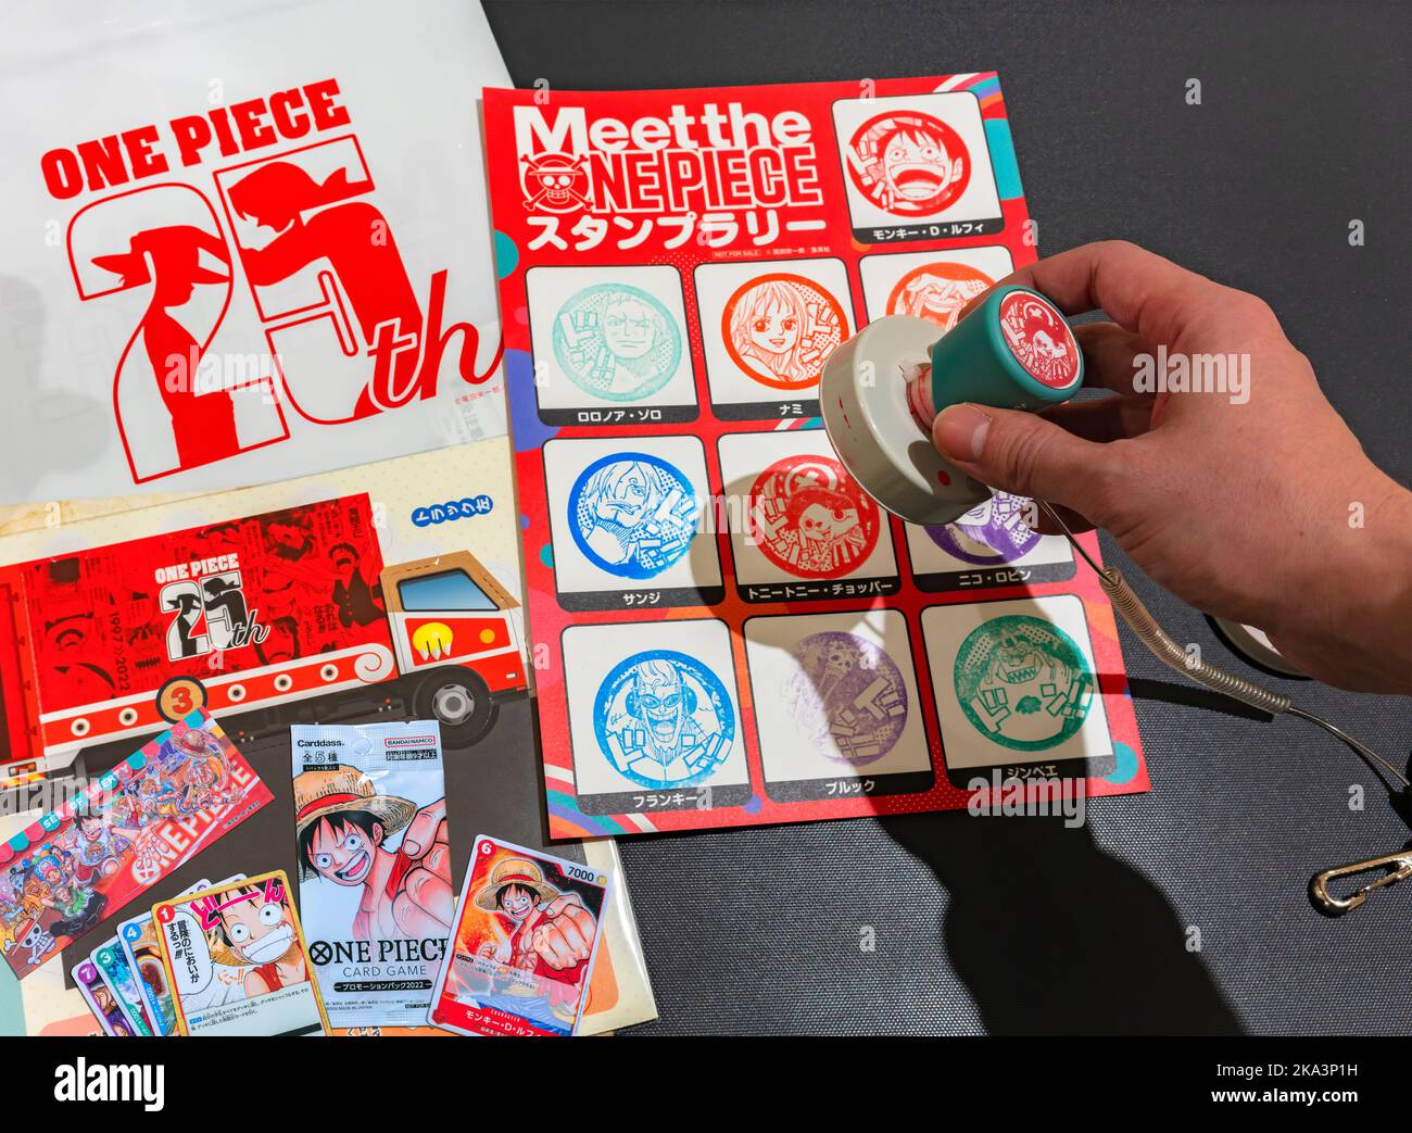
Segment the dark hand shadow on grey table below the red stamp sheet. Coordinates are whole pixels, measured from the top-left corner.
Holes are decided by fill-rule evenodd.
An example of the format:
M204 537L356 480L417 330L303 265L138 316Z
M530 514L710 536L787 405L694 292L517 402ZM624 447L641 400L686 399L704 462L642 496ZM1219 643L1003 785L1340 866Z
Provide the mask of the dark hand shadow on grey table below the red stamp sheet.
M1240 1034L1186 927L1063 818L880 819L950 893L938 925L988 1034Z

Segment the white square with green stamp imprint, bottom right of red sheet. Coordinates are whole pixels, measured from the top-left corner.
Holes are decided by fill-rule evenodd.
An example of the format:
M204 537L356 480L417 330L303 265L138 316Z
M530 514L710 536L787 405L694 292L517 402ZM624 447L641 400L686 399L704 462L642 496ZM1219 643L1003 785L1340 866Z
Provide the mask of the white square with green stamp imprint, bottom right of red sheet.
M932 606L922 636L953 784L1114 770L1082 598Z

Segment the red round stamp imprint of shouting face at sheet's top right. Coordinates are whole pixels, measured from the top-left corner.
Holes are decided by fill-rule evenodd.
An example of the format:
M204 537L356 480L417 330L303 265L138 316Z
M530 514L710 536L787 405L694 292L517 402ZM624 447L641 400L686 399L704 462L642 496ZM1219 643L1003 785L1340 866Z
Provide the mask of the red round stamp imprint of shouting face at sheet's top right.
M970 184L970 154L950 126L921 110L877 114L849 143L849 177L895 216L936 216Z

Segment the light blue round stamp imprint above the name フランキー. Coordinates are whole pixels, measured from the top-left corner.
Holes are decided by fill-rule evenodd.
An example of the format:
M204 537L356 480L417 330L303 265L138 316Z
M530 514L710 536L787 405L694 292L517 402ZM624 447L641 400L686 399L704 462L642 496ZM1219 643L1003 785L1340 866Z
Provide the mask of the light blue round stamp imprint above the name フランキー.
M685 653L655 648L620 661L593 701L609 763L644 787L689 787L730 756L736 711L726 685Z

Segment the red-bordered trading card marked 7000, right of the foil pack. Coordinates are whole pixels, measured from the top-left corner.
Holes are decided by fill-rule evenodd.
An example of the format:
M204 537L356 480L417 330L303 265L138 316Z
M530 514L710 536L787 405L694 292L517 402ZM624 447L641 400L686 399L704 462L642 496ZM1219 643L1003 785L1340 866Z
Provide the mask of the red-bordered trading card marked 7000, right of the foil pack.
M573 1034L607 887L606 873L480 835L429 1021L462 1034Z

